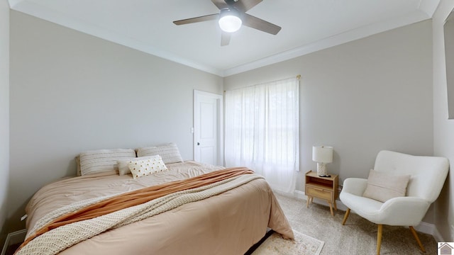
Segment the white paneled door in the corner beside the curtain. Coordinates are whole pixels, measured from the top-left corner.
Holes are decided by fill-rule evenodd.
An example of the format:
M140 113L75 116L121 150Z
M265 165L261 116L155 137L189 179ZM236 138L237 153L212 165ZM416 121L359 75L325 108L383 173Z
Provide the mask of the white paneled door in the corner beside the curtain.
M194 90L194 160L223 164L222 95Z

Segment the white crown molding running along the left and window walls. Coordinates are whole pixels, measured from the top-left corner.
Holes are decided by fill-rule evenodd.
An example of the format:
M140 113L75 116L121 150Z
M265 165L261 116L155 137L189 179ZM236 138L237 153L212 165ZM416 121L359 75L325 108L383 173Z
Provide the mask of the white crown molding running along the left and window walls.
M87 22L79 20L77 18L70 18L68 16L63 15L62 13L58 13L56 11L50 11L48 8L40 6L36 2L24 1L24 0L9 0L9 4L10 4L11 8L15 11L27 13L31 16L41 18L45 21L57 23L61 26L65 26L67 28L72 28L72 29L78 30L82 33L87 33L89 35L93 35L97 38L109 40L111 42L116 42L119 45L131 47L132 49L140 50L140 51L146 52L150 55L155 55L156 57L161 57L165 60L177 62L179 64L186 65L187 67L199 69L203 72L215 74L215 75L218 75L219 77L228 77L228 76L231 76L234 74L247 72L252 69L257 69L260 67L265 67L270 64L275 64L277 62L290 60L292 58L300 57L302 55L306 55L311 52L323 50L328 47L341 45L345 42L350 42L353 40L358 40L360 38L365 38L367 36L374 35L376 33L382 33L387 30L392 30L394 28L399 28L399 27L406 26L406 25L409 25L412 23L427 20L429 18L432 18L433 13L435 13L436 8L439 3L440 3L440 0L437 0L437 1L421 0L421 2L419 4L419 10L409 13L406 16L394 18L394 19L387 20L387 21L382 21L380 23L372 23L367 26L362 26L360 28L348 30L348 31L345 31L344 33L339 33L338 35L333 35L328 38L323 38L321 40L317 40L315 42L311 42L309 44L302 45L301 47L297 47L292 50L287 50L285 52L281 52L276 55L264 57L260 60L255 60L253 62L240 64L240 65L238 65L236 67L232 67L230 69L218 69L218 68L206 65L206 64L201 64L199 62L194 62L192 60L189 60L189 59L186 59L183 57L179 57L175 54L172 54L171 52L167 52L165 50L158 49L157 47L153 47L153 45L147 44L145 42L140 42L139 40L136 40L134 38L128 38L128 37L125 37L122 35L118 35L112 31L106 30L105 28L101 28L99 26L94 26L91 23L87 23Z

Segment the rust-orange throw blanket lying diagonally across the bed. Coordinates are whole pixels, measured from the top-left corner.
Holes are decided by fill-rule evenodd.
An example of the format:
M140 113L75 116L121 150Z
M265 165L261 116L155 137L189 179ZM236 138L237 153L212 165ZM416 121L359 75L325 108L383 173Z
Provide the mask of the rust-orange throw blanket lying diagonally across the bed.
M178 191L185 191L191 188L199 188L201 186L216 183L217 181L223 181L231 177L253 173L254 171L247 169L245 167L233 167L229 169L212 171L208 174L202 174L201 176L196 176L181 181L172 181L170 183L163 183L160 185L151 186L147 188L140 188L136 191L123 193L121 195L103 200L94 205L89 205L86 208L82 208L81 210L69 212L65 215L57 217L57 219L53 220L48 225L45 225L44 227L38 229L38 231L36 231L35 234L28 237L23 242L23 244L21 244L18 250L21 249L26 244L28 244L28 242L30 242L35 237L38 237L41 234L50 231L51 229L55 229L63 225L71 224L73 222L79 222L82 220L89 220L94 217L99 217L101 215L106 215L111 212L116 212L117 210L129 208L134 205L140 205L150 200L160 198L162 196L166 196Z

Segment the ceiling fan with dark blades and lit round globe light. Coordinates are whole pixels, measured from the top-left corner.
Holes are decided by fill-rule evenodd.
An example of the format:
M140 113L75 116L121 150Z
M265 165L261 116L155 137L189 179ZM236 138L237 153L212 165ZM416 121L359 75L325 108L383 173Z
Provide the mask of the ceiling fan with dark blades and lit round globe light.
M262 0L211 0L220 10L219 13L195 18L187 18L179 21L174 21L175 25L184 25L202 21L218 20L221 27L221 46L228 45L230 42L231 33L240 29L241 25L255 28L260 31L276 35L281 30L281 27L273 23L264 21L255 16L251 16L246 11L250 10Z

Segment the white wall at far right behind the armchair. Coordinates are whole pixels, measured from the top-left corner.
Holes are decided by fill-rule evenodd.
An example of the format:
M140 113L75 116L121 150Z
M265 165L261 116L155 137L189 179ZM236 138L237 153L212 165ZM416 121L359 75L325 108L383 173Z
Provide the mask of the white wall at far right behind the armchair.
M454 1L441 0L433 16L433 152L454 162L454 120L448 120L445 44L443 23L454 8ZM454 42L453 42L454 43ZM451 166L441 196L436 201L437 234L444 242L454 240L454 174Z

